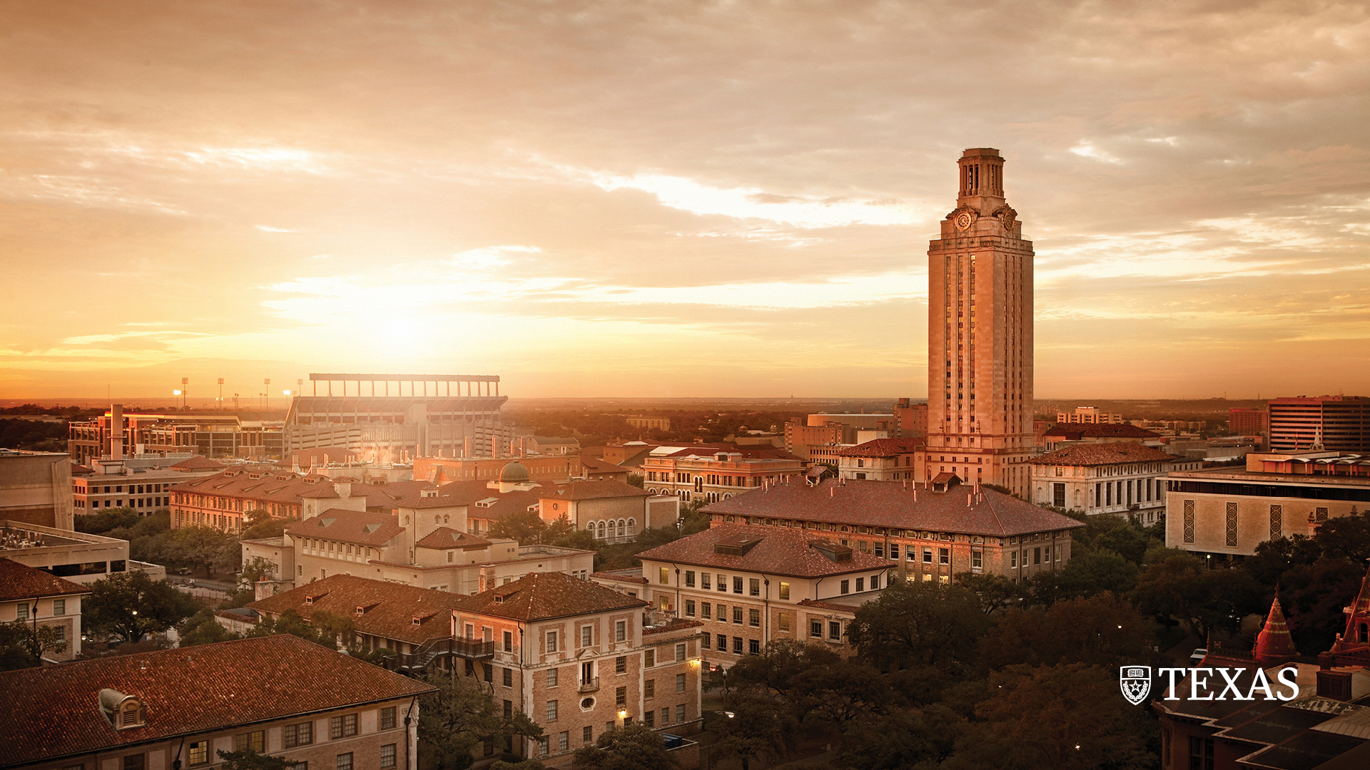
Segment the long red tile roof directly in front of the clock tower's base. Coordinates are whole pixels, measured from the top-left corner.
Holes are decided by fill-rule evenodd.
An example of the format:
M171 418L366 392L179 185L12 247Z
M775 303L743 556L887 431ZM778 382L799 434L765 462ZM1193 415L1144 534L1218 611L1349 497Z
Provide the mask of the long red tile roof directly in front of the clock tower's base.
M967 504L974 486L952 486L933 492L922 485L897 481L823 481L808 486L799 481L754 489L721 500L703 510L708 514L733 514L821 523L875 526L1007 537L1085 526L1010 495L981 488Z

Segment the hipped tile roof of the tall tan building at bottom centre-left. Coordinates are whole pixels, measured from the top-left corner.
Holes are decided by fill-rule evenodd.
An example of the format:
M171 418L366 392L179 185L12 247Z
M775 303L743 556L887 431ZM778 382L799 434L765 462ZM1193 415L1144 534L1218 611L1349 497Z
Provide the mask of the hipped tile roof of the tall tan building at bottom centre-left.
M566 573L529 573L522 578L482 591L475 596L462 596L456 608L464 612L493 615L514 621L545 621L629 610L647 601L577 580Z

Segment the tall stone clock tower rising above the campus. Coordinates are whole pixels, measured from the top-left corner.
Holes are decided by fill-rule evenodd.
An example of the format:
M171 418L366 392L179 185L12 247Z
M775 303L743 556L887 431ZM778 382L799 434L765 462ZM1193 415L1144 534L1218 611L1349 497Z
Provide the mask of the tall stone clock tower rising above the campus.
M959 166L956 208L927 248L926 473L955 473L1026 497L1033 452L1032 241L1022 238L1018 212L1004 201L999 151L967 149Z

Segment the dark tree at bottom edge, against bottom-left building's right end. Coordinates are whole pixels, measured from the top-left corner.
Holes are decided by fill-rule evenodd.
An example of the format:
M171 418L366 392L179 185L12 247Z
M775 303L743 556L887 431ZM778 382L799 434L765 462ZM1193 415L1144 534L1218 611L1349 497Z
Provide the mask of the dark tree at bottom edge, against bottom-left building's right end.
M543 728L522 711L506 719L475 677L437 671L421 678L437 686L419 696L419 759L425 767L460 770L470 767L471 749L481 741L543 736Z

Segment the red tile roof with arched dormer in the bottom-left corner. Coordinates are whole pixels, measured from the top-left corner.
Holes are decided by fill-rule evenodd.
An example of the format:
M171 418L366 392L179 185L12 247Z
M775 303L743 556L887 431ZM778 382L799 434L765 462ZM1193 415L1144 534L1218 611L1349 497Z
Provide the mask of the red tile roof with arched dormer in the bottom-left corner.
M115 732L104 688L137 696L147 725ZM0 671L0 762L25 765L430 692L293 636L269 636Z

